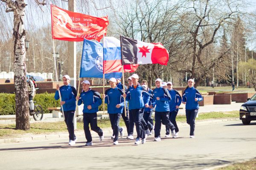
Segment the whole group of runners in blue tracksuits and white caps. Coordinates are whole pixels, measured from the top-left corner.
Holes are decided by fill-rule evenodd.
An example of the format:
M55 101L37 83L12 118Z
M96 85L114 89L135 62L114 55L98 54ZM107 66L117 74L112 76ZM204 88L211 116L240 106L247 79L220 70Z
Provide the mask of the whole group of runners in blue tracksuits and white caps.
M120 138L124 136L124 129L119 126L122 117L127 129L127 139L134 140L134 124L137 131L135 144L145 144L148 135L154 133L154 141L161 141L161 124L166 126L165 137L177 138L179 129L176 123L176 116L181 102L186 104L186 120L190 125L190 138L194 138L195 118L198 114L198 101L203 100L201 94L194 88L194 80L189 79L188 86L181 97L177 90L173 89L172 82L162 82L160 78L155 80L155 89L149 89L147 81L143 80L141 84L139 76L133 74L128 79L129 87L124 87L120 78L110 78L110 88L105 91L103 97L105 104L108 105L108 114L113 130L113 144L118 145ZM97 125L97 112L102 104L99 92L90 89L90 82L84 80L81 84L83 90L80 96L77 96L76 89L70 86L70 77L63 76L63 86L57 85L55 99L59 99L58 90L60 90L65 122L69 132L69 145L76 144L77 138L74 134L73 116L76 109L76 100L78 105L84 104L83 122L84 133L86 137L86 146L93 145L92 136L89 129L99 135L99 140L104 139L103 131ZM126 101L125 101L125 100ZM128 104L129 103L129 104ZM126 108L126 114L125 114ZM155 110L155 124L151 117ZM171 135L170 135L171 134Z

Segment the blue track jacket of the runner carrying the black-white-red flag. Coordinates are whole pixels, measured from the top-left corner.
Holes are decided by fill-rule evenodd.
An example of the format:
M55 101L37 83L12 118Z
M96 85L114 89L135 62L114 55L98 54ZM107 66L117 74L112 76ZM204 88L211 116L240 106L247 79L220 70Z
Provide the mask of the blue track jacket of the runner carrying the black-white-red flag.
M145 102L143 101L143 98L145 98ZM129 110L143 108L145 104L148 104L149 99L150 94L148 93L147 89L140 86L139 83L136 89L134 88L134 85L132 85L127 91L126 100L129 101Z

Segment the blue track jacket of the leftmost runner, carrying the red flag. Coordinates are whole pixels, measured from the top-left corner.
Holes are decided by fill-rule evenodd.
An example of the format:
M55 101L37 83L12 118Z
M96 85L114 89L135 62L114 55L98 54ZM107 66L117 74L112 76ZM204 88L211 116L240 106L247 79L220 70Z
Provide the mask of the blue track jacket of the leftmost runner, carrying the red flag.
M62 105L63 111L76 110L76 89L73 86L60 86L61 92L61 101L65 101L65 104ZM58 90L56 90L54 95L55 100L60 98Z

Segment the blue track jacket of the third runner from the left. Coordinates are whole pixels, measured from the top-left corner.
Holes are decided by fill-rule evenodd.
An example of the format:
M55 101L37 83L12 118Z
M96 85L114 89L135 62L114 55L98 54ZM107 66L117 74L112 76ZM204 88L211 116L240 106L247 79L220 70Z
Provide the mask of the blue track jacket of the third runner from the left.
M122 113L124 109L123 92L117 86L116 88L110 88L105 91L105 104L108 104L108 113L116 114ZM116 105L120 104L121 107L116 108Z

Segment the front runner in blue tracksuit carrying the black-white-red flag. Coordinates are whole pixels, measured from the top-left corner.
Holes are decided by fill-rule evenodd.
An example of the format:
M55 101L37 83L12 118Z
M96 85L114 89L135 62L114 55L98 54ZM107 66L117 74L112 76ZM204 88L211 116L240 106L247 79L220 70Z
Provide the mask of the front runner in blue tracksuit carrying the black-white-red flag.
M145 130L142 124L143 110L144 106L148 107L150 95L148 94L145 87L140 86L140 84L138 83L139 76L137 74L133 74L131 76L131 79L133 85L127 92L126 98L127 101L129 101L129 109L131 110L131 115L133 116L136 125L137 138L135 144L144 144L146 142L147 136L145 135ZM145 104L143 101L143 96L144 98L147 98Z

